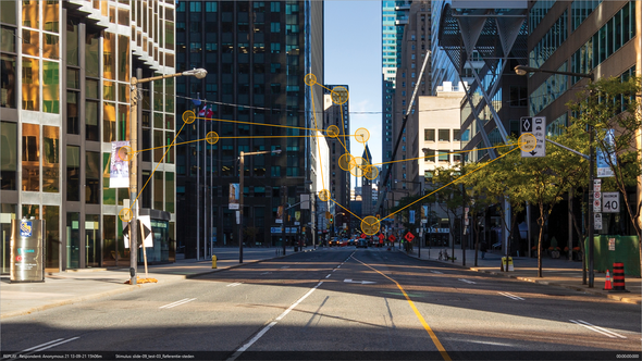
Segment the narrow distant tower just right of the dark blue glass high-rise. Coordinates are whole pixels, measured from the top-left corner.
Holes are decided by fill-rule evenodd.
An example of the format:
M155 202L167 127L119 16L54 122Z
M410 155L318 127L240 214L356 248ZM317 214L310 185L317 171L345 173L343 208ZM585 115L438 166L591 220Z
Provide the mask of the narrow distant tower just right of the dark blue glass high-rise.
M350 171L347 167L339 165L339 159L343 154L350 154L350 108L349 94L347 85L326 85L324 97L324 122L323 129L334 125L338 128L336 137L328 137L330 147L330 162L328 172L330 173L330 184L326 186L330 195L338 204L349 209L350 208ZM334 100L333 100L334 99ZM344 100L346 100L344 102ZM344 157L342 160L347 160ZM345 164L344 164L345 165ZM345 213L345 212L344 212ZM343 219L346 216L335 216L337 224L343 224Z

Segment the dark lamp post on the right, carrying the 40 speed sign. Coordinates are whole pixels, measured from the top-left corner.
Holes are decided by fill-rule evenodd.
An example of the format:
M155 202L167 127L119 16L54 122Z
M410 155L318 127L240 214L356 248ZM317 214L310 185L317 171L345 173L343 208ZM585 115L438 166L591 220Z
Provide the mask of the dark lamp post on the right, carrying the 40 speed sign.
M569 75L569 76L577 76L577 77L584 77L584 78L589 78L589 80L591 83L593 83L595 80L595 75L593 73L572 73L572 72L557 72L557 71L548 71L548 70L543 70L543 69L539 69L539 67L531 67L531 66L524 66L524 65L517 65L515 66L515 73L517 73L517 75L527 75L528 73L548 73L548 74L559 74L559 75ZM591 90L590 95L589 95L589 100L593 100L593 91ZM593 215L593 185L594 185L594 177L595 174L593 173L593 166L594 166L594 149L593 149L593 125L590 124L589 125L589 134L590 134L590 139L589 139L589 288L593 288L594 286L594 271L593 271L593 253L594 253L594 236L593 233L595 232L595 219ZM557 145L557 144L555 144ZM567 150L572 151L571 149L568 149L566 147L563 147ZM573 151L575 152L575 151ZM576 152L578 153L578 152ZM580 155L583 155L580 153ZM585 155L583 155L585 157ZM580 241L582 241L580 239ZM587 281L583 279L583 284L587 284Z

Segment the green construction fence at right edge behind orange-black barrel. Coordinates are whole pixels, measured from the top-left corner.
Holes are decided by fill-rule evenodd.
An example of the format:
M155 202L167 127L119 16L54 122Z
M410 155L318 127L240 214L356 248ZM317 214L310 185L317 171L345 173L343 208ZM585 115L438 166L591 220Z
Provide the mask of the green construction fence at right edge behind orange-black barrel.
M615 238L615 250L608 249L610 238ZM640 277L640 239L638 236L596 236L594 238L593 267L597 272L609 270L613 274L613 263L625 263L625 275ZM589 254L589 238L584 239L587 257Z

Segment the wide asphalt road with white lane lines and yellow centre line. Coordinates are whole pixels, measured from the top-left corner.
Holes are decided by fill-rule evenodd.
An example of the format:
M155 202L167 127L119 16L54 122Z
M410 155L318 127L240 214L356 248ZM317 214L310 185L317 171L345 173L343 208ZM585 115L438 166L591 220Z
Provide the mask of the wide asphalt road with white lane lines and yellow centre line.
M5 359L630 360L640 321L638 304L349 247L12 318L0 332Z

